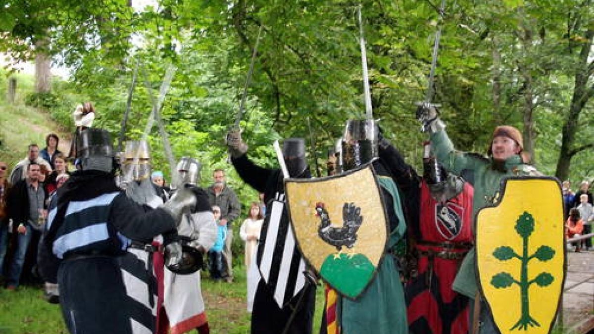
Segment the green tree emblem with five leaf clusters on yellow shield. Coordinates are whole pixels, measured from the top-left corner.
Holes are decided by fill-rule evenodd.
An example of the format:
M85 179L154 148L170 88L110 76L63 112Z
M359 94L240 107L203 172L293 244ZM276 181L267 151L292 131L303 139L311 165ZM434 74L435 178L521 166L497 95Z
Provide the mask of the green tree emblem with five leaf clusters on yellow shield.
M555 256L555 250L551 247L546 245L541 245L532 255L528 255L528 238L530 234L534 231L534 218L530 213L523 212L522 215L516 220L516 232L517 234L522 237L522 256L519 256L513 248L508 246L501 246L497 247L493 251L493 256L500 261L507 261L511 260L514 257L519 259L521 262L521 270L520 270L520 280L514 279L509 273L501 272L496 275L493 275L491 278L491 285L495 286L495 288L509 288L512 284L517 284L520 286L520 294L522 301L522 316L520 320L511 327L510 330L518 329L518 330L527 330L528 325L534 327L540 327L541 324L536 322L530 316L529 313L529 295L528 295L528 288L532 283L536 283L538 286L548 286L550 285L555 278L546 272L539 273L531 281L528 280L528 263L530 260L536 258L539 261L548 261L551 260Z

